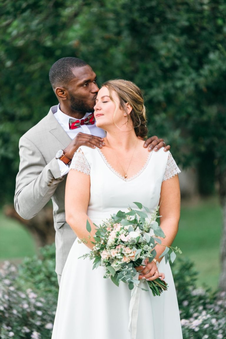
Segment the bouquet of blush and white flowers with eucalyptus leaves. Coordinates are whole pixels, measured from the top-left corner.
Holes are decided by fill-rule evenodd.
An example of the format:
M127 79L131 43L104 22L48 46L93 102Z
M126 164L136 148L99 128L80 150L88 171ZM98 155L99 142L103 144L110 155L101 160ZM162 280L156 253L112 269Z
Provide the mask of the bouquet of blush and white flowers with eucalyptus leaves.
M134 202L134 204L139 210L129 208L127 213L119 211L102 225L95 225L97 228L93 250L81 257L94 260L93 269L99 265L103 266L104 278L110 278L117 286L120 281L128 283L130 290L133 289L134 284L139 283L136 279L138 272L135 267L144 265L146 258L151 262L156 256L157 245L165 246L159 239L159 237L165 237L164 232L156 221L159 207L148 218L147 214L141 210L144 208L150 213L149 209L139 202ZM86 229L89 233L91 232L88 220ZM87 243L87 240L81 239L80 242ZM173 262L177 252L181 253L180 248L165 246L160 258L164 256L166 262L168 259ZM147 283L154 296L167 290L167 283L160 278L147 281ZM148 291L145 288L142 290Z

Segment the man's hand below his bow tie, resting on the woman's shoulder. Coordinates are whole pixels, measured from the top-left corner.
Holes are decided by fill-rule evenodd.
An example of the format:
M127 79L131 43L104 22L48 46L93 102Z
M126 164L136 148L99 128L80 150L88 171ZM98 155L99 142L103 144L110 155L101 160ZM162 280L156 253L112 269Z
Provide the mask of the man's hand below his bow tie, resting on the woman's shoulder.
M69 143L69 145L63 150L64 155L68 159L72 159L74 153L80 146L88 146L91 148L104 146L103 138L96 137L95 135L90 135L86 133L78 133L76 137Z

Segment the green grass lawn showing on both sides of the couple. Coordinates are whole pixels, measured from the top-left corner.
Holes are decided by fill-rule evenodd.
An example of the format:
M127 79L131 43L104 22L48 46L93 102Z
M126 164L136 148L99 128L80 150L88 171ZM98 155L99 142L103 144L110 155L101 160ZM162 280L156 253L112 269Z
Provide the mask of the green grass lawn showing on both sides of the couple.
M218 285L221 218L216 198L182 202L179 232L174 245L181 248L181 257L194 262L199 272L198 285L205 283L213 288ZM35 251L32 236L19 222L4 217L0 212L0 260L20 260L34 255Z

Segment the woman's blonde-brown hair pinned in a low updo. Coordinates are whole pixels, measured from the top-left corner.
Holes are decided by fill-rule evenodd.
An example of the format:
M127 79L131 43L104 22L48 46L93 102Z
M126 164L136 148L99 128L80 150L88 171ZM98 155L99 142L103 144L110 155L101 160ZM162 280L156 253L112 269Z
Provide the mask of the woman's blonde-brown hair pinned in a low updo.
M137 137L145 138L147 136L147 127L146 127L146 110L144 106L144 99L139 87L137 87L133 82L122 79L109 80L102 84L108 88L110 99L116 105L116 111L118 109L117 102L112 99L112 91L115 91L118 94L120 100L119 108L122 109L127 114L126 103L128 102L132 111L130 114L127 114L127 119L129 122L129 116L133 123L133 127Z

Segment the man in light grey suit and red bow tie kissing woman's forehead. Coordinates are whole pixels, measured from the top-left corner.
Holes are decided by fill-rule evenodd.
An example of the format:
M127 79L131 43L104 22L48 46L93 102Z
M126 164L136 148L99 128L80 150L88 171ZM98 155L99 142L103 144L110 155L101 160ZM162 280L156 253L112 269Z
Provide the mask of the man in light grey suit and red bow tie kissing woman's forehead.
M94 105L99 88L96 74L83 60L62 58L49 72L59 104L20 139L20 166L16 179L15 208L24 219L33 218L52 199L56 230L56 273L60 282L67 255L76 239L65 221L66 174L81 145L104 147L105 132L96 127ZM157 137L145 141L148 150L165 146ZM166 151L170 146L166 146ZM75 206L76 213L76 206Z

